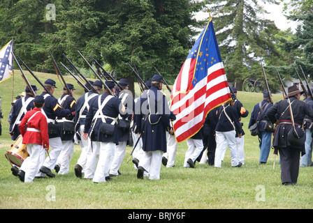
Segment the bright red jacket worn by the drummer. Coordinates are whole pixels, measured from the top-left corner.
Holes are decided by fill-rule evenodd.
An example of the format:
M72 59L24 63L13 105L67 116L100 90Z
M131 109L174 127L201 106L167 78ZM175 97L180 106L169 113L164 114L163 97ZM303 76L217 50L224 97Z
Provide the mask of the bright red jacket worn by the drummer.
M27 123L29 118L36 112L38 113ZM27 131L25 129L26 124L27 128L34 128L40 130L40 132ZM44 148L49 148L48 122L45 115L41 113L41 109L35 107L27 112L18 126L23 137L23 144L38 144L43 145Z

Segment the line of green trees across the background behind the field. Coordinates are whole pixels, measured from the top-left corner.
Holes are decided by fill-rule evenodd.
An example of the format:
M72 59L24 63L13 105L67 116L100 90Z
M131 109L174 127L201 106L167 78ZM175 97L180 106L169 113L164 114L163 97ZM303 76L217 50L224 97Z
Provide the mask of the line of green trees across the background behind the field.
M79 50L115 70L118 78L134 81L126 64L133 61L144 80L156 74L156 67L173 84L196 36L208 22L197 21L194 15L208 8L228 82L237 82L238 89L247 77L262 77L261 61L272 88L279 84L276 67L283 77L296 77L292 64L312 74L313 0L289 0L284 12L277 12L298 21L294 32L279 30L262 17L265 8L256 0L1 1L0 43L13 38L15 54L32 70L54 73L50 52L57 62L66 64L64 53L87 70Z

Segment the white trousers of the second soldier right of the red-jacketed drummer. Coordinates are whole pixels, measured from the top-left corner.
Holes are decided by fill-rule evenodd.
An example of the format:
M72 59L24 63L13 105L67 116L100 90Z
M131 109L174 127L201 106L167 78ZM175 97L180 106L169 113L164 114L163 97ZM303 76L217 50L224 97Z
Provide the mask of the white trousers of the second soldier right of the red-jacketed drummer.
M59 164L58 174L68 174L70 162L74 153L74 142L72 140L62 141L62 151L57 158L57 164Z

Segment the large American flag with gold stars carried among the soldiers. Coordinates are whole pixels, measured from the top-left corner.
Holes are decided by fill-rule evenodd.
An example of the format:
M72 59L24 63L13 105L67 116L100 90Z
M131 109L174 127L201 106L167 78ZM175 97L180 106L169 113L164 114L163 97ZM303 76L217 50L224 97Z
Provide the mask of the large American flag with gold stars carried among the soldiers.
M211 109L231 100L212 18L182 65L171 93L177 142L196 134Z

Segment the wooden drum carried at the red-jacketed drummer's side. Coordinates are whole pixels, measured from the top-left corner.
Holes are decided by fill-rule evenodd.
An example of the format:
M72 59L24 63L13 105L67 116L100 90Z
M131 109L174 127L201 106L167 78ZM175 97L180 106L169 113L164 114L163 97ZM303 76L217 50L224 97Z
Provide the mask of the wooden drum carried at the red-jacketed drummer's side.
M23 137L20 135L15 140L9 151L6 151L6 158L12 166L21 167L24 160L29 157L26 144L22 144Z

